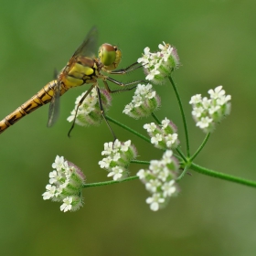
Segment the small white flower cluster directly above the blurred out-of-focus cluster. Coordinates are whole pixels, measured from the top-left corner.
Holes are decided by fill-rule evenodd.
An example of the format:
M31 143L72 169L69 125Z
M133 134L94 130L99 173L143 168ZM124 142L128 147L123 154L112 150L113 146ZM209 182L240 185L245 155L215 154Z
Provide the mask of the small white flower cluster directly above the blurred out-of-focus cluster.
M174 149L179 144L176 125L166 117L160 126L155 123L146 123L144 124L144 129L151 137L151 143L157 148Z

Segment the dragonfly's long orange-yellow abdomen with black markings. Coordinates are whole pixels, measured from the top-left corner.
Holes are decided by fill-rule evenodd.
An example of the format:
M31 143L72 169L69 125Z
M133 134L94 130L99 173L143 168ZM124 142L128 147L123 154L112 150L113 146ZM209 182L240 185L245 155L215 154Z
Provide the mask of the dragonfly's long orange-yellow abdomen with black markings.
M24 104L19 106L16 111L11 112L2 121L0 121L0 133L5 132L9 126L19 121L28 113L37 110L37 108L51 101L57 84L57 80L48 82L48 84L38 91L30 100L26 101ZM61 84L60 95L64 94L66 91L68 91L68 88Z

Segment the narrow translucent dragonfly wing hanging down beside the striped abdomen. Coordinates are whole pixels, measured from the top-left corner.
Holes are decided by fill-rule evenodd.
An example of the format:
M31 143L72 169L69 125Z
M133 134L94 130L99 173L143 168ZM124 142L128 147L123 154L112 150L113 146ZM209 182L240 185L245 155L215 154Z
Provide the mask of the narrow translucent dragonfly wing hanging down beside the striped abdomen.
M48 127L51 127L59 117L59 97L60 97L60 82L54 88L54 94L49 104L48 109Z

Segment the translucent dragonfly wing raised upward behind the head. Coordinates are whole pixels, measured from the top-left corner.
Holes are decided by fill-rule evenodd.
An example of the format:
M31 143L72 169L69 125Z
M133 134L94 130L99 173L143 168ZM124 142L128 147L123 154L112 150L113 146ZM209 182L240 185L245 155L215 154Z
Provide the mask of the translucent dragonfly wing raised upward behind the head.
M77 48L72 57L82 56L94 58L97 51L97 41L98 41L98 29L97 27L91 27L91 30L84 38L80 47Z

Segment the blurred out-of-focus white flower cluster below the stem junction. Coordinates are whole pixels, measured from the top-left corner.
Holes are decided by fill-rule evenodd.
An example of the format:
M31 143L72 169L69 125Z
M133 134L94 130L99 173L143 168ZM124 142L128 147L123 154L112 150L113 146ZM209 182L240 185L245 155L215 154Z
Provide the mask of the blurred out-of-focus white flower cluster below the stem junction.
M137 176L152 194L146 203L154 211L165 207L169 197L178 192L176 177L179 165L171 150L167 150L161 160L151 160L149 169L141 169Z

